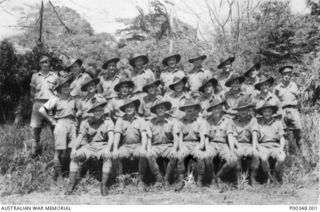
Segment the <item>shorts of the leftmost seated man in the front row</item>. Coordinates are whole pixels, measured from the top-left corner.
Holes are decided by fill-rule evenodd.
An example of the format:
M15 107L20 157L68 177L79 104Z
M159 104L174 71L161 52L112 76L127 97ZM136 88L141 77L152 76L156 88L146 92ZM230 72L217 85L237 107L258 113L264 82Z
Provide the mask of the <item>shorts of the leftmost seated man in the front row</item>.
M92 142L86 144L75 153L75 157L85 157L86 160L89 158L108 158L110 152L107 150L107 142Z

